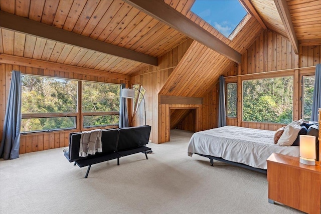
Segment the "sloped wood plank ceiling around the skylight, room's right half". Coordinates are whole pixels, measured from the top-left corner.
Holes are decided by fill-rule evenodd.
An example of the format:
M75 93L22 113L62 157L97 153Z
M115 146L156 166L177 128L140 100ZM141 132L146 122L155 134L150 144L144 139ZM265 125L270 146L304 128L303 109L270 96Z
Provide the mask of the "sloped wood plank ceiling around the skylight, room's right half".
M247 0L244 0L247 1ZM193 1L166 1L175 7L184 5L186 17L203 26L224 43L243 54L263 31L257 20L251 17L232 41L225 38L197 15L189 11ZM266 27L288 38L273 0L251 0ZM321 1L288 0L288 10L293 21L295 36L300 45L321 45ZM200 21L201 20L201 21ZM194 41L161 90L161 95L203 97L234 63L222 55Z

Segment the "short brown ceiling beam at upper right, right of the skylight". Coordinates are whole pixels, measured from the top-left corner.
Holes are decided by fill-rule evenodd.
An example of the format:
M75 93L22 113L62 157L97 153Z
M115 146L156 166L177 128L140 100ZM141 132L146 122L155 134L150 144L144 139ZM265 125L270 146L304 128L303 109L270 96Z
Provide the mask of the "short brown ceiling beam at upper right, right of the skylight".
M287 37L289 38L289 40L292 44L292 47L294 49L294 53L298 54L299 53L299 43L298 43L296 35L295 35L295 31L294 31L290 11L287 7L287 3L286 3L286 1L282 1L282 0L274 0L274 3L275 3L277 11L281 17Z

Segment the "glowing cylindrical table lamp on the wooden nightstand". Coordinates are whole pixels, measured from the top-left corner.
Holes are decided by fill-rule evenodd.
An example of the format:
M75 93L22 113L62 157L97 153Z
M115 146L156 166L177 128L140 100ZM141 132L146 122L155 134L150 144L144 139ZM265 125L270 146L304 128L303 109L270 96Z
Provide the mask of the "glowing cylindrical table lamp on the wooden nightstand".
M300 135L300 163L315 165L315 136Z

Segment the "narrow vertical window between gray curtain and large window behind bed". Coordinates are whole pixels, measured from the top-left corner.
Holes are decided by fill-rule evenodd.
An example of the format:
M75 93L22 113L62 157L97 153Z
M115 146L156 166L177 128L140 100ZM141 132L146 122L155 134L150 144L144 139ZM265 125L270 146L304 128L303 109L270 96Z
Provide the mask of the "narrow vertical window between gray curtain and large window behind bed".
M226 116L236 117L237 113L237 84L227 83L227 99L226 99Z

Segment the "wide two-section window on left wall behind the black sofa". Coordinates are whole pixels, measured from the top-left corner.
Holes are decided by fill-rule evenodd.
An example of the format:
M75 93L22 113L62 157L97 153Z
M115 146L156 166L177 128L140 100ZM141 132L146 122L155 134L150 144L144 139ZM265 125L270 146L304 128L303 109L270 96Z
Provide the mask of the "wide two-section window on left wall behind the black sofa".
M78 94L78 84L82 93ZM78 100L81 109L78 112ZM120 85L22 75L22 132L119 124ZM80 127L79 127L80 128Z

